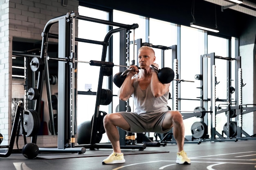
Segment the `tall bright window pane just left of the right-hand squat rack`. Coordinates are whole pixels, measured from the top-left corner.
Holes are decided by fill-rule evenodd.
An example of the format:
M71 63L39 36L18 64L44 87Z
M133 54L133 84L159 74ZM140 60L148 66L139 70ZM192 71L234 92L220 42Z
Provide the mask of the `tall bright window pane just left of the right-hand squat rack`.
M197 87L200 87L200 81L195 80L195 75L200 74L200 55L204 54L204 32L188 26L181 26L180 29L180 79L194 81L180 82L180 97L198 99L200 89ZM200 106L200 102L194 108L197 106ZM181 110L187 110L187 107L181 105Z

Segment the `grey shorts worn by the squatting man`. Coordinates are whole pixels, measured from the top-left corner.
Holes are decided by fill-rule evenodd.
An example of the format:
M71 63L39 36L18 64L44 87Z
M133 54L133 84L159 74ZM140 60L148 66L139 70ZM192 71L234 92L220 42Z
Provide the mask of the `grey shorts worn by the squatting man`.
M124 119L130 125L130 131L128 132L156 132L156 133L166 133L170 131L170 129L163 130L162 124L164 121L164 117L168 111L159 112L155 116L150 119L141 117L137 113L133 112L119 112Z

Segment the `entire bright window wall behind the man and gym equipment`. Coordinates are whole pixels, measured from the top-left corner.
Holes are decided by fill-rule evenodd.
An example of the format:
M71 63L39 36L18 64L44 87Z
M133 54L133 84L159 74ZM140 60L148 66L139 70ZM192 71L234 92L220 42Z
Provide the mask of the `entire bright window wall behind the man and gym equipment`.
M101 11L97 9L90 9L87 7L79 6L79 15L88 16L92 18L99 18L102 20L109 20L110 13L107 11ZM196 74L200 74L200 56L207 53L215 53L215 55L227 57L229 56L229 39L220 38L213 35L207 35L207 32L194 29L188 26L178 26L176 24L161 21L153 18L146 18L144 16L135 15L132 13L127 13L123 11L113 10L112 13L113 22L122 24L139 24L139 28L131 30L130 32L130 49L128 55L120 56L120 35L115 33L112 36L113 42L113 61L115 64L120 63L121 57L129 56L129 62L126 64L131 64L132 60L135 60L137 64L137 45L134 44L134 40L142 39L142 42L147 42L153 45L161 46L172 46L177 45L177 59L179 63L179 79L184 80L180 83L180 110L189 111L194 110L195 107L200 106L200 81L195 79ZM113 29L116 27L114 26ZM108 32L108 26L103 24L97 24L93 22L86 22L79 20L79 38L103 41L106 33ZM233 38L233 40L235 39ZM135 42L136 43L136 42ZM180 49L179 49L180 48ZM232 56L234 55L234 49L232 47ZM155 55L157 57L156 63L159 64L159 68L170 67L172 68L172 50L164 50L164 58L162 58L162 50L155 48ZM86 44L78 42L78 60L90 61L90 60L101 60L101 45ZM162 60L164 60L164 65L162 66ZM209 62L208 62L209 63ZM233 66L232 66L232 69ZM113 75L119 72L119 67L113 67ZM94 73L94 74L92 74ZM88 64L78 64L78 91L87 91L85 89L85 84L92 84L92 91L97 91L99 68L97 66L88 66ZM226 98L226 78L227 74L226 61L216 60L216 77L217 82L220 82L216 86L216 97L222 99ZM103 80L103 88L108 88L108 79ZM210 82L208 83L210 84ZM170 92L172 91L172 86L170 87ZM113 84L113 112L119 104L119 99L117 97L118 87ZM210 88L209 88L210 89ZM173 95L173 94L171 94ZM208 97L211 96L211 91L208 92ZM86 106L86 113L84 112L85 101L90 101L90 104ZM78 120L81 121L85 119L91 119L94 113L94 105L96 102L96 96L89 95L78 95ZM132 98L130 98L130 107L133 110ZM89 106L90 105L90 106ZM168 103L172 107L172 101ZM208 104L210 106L210 104ZM108 106L100 106L103 111L108 110ZM100 109L100 110L101 110ZM174 108L175 109L175 108ZM210 110L210 108L205 108ZM81 115L82 113L82 115ZM225 119L222 116L217 115L218 128L217 131L223 130L223 125L225 124ZM200 121L196 117L191 117L185 119L186 124L185 135L191 135L191 125L195 121ZM208 128L211 127L210 114L208 118ZM81 122L80 122L81 123ZM78 122L79 124L79 122ZM219 125L220 124L220 125ZM211 131L208 130L208 134Z

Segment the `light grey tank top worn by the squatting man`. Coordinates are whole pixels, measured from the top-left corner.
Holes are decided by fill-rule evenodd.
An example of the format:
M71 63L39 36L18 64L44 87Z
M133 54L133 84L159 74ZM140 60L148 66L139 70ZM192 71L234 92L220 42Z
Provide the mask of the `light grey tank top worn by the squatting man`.
M150 85L145 89L141 90L138 82L138 76L135 77L134 81L134 93L132 94L135 112L145 118L150 118L159 112L168 111L168 96L169 91L163 96L155 98L151 91Z

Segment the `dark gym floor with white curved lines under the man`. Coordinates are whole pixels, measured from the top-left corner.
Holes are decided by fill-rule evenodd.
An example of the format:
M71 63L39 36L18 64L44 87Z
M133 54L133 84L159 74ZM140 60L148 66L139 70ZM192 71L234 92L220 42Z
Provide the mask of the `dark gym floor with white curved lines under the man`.
M111 149L77 153L40 153L26 159L21 153L0 158L0 170L256 170L256 140L185 144L190 165L175 163L177 146L146 147L143 151L124 149L125 163L102 165Z

